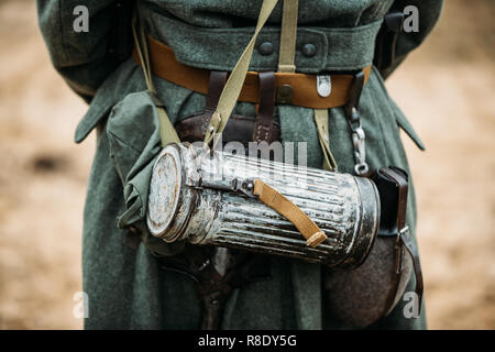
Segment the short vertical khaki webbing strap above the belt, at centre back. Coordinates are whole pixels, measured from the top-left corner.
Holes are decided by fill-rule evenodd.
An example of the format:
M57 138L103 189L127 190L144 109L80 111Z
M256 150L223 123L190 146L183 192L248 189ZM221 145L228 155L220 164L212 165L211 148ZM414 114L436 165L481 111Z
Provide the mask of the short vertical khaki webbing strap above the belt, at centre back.
M295 73L298 0L284 0L278 72Z

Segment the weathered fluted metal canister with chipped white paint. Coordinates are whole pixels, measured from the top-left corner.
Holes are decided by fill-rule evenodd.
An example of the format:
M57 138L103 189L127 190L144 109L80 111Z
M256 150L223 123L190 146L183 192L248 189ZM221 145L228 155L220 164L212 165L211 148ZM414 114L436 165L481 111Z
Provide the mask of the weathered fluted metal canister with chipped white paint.
M308 248L284 217L230 190L235 180L253 178L295 202L328 239ZM148 200L148 228L164 241L186 239L329 266L359 265L378 229L380 198L366 178L221 153L211 158L176 144L155 164Z

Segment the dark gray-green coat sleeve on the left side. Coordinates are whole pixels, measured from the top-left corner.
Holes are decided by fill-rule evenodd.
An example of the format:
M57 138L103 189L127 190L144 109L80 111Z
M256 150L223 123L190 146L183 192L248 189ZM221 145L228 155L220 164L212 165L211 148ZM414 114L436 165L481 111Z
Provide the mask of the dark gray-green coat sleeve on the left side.
M75 9L88 9L88 31L77 32L80 15ZM129 56L131 41L131 1L37 0L37 15L55 69L68 86L86 101Z

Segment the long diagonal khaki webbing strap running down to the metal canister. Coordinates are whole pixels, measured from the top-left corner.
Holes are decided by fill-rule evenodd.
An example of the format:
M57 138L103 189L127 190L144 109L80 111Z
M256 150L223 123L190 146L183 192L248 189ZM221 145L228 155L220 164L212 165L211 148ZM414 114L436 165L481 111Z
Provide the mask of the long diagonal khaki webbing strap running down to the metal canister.
M260 11L260 16L257 18L257 24L256 30L254 31L254 35L242 53L238 63L235 64L235 67L230 74L229 79L227 80L226 87L223 88L222 95L220 96L217 110L211 117L210 124L205 135L206 144L209 144L215 139L212 150L215 150L216 144L219 141L219 136L223 132L223 129L227 125L227 121L229 120L235 102L238 101L239 95L241 94L242 85L244 84L248 68L250 66L251 56L253 55L256 37L268 20L268 16L277 2L278 0L263 0L263 6Z

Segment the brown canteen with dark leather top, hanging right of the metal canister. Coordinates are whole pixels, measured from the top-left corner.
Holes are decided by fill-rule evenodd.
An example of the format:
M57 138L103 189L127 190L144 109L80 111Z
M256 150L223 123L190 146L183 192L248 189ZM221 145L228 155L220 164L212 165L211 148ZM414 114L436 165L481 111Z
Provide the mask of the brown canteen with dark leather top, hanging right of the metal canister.
M395 167L382 168L372 179L378 188L382 208L380 232L369 257L352 271L322 272L326 309L348 327L366 327L387 316L403 297L414 271L417 292L419 297L422 295L417 250L404 223L407 174Z

